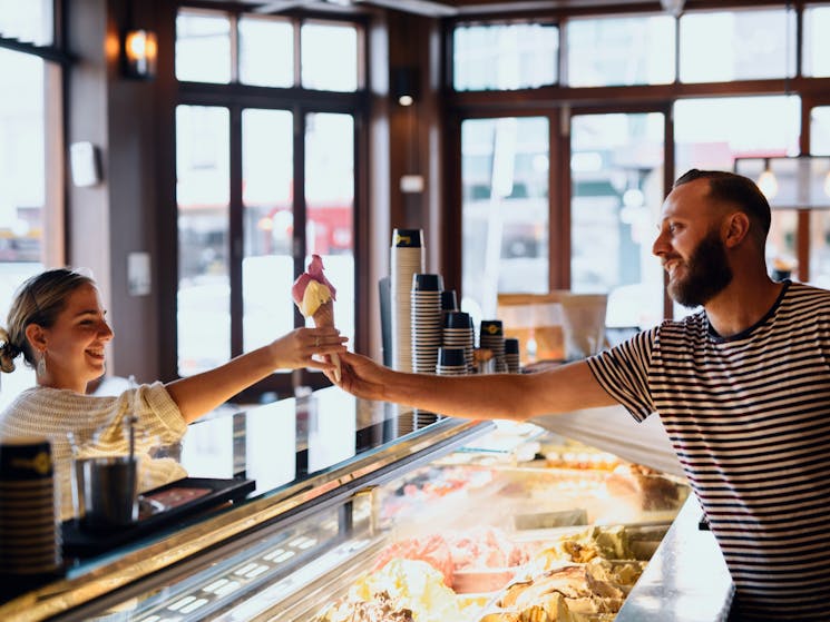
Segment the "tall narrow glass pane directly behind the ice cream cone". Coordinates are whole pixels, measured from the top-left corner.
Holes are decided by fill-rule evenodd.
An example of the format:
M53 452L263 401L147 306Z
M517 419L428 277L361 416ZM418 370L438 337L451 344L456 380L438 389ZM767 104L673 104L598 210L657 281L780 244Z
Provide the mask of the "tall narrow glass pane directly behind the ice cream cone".
M354 336L354 119L350 115L305 117L305 241L323 258L338 289L334 320ZM305 258L305 266L311 257Z

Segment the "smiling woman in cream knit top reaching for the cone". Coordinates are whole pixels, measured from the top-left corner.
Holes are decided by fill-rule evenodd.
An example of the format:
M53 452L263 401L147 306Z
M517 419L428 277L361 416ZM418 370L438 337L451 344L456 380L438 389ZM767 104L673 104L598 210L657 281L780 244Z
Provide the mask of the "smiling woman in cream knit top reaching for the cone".
M37 376L37 385L0 414L0 437L48 437L61 491L70 486L71 440L84 445L85 454L126 453L125 422L135 415L140 437L177 443L187 424L274 369L314 367L332 373L326 355L345 351L346 339L336 328L297 328L202 374L96 397L87 395L87 386L104 374L105 347L113 339L105 316L95 282L59 268L23 283L9 309L7 329L0 328L0 369L13 372L14 358L22 355ZM169 466L167 473L156 473L153 484L183 476L178 465ZM70 516L69 494L61 495L61 506L62 517Z

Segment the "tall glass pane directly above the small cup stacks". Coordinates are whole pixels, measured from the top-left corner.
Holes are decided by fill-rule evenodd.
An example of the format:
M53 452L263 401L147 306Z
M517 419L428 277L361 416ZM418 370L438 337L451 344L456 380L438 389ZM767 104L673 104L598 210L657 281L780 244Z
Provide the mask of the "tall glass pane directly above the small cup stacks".
M476 319L499 293L548 290L549 134L545 117L461 125L461 306Z

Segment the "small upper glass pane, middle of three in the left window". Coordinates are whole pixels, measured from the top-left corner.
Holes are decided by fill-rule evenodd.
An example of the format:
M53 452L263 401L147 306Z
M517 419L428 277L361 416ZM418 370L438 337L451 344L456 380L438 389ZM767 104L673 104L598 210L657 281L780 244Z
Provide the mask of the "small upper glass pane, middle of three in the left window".
M294 86L294 29L274 18L240 19L240 81L260 87Z

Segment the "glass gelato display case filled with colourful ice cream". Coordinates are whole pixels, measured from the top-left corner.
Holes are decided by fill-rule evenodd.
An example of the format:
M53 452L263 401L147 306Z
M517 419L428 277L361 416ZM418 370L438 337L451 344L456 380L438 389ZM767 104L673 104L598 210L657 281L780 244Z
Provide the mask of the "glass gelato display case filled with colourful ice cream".
M194 424L180 462L252 490L68 555L65 576L1 604L0 619L623 620L664 598L664 571L687 572L682 545L671 570L660 559L681 509L695 513L684 481L531 424L332 388ZM719 581L711 611L728 613Z

